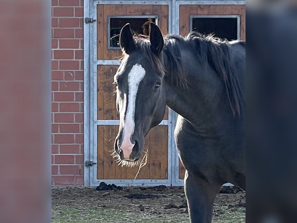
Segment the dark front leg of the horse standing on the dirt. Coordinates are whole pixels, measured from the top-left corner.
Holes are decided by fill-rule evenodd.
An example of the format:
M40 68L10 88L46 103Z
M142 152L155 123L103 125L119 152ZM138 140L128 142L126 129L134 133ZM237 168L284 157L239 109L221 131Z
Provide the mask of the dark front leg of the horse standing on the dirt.
M191 223L211 223L214 199L221 185L212 185L186 171L184 190Z

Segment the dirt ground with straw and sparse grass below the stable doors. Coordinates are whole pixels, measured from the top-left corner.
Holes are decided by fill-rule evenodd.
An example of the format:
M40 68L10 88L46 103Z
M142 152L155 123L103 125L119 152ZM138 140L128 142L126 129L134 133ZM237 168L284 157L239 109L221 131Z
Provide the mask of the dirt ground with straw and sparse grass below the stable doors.
M53 188L52 223L189 223L183 187ZM245 222L245 192L225 187L213 223ZM228 193L228 194L226 194Z

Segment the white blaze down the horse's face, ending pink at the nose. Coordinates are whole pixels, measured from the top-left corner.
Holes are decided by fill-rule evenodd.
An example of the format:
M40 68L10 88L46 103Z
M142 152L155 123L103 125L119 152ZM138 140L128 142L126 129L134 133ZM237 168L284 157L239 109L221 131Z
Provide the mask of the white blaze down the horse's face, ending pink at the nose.
M124 130L123 130L123 142L121 145L121 149L123 150L123 155L125 159L129 159L130 154L132 153L133 146L130 137L134 133L135 122L135 100L138 91L138 85L140 81L143 79L146 71L139 64L135 64L130 73L128 75L128 106L126 112L126 118L124 120ZM127 100L124 102L124 106L126 108Z

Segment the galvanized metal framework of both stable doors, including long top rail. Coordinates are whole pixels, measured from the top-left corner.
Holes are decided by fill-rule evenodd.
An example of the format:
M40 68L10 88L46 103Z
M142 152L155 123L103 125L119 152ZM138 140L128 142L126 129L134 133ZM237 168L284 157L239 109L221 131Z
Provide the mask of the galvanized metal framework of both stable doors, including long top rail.
M217 0L84 0L84 18L96 18L97 4L167 4L168 32L179 34L179 6L181 4L245 4L245 1ZM96 52L94 51L96 50ZM97 65L119 65L118 60L97 60L97 26L96 23L84 25L84 161L97 161L97 125L117 125L117 120L97 120L94 107L97 106L97 97L94 94L94 83L97 83ZM96 107L97 109L97 107ZM96 117L94 119L94 117ZM177 114L171 109L168 111L168 120L161 125L168 125L168 179L167 180L105 180L110 183L126 186L153 186L164 184L167 186L182 186L184 179L179 179L179 158L173 137ZM95 136L95 137L94 137ZM95 156L96 155L96 156ZM97 186L97 166L84 168L84 186ZM230 184L229 184L230 185Z

